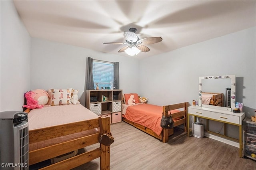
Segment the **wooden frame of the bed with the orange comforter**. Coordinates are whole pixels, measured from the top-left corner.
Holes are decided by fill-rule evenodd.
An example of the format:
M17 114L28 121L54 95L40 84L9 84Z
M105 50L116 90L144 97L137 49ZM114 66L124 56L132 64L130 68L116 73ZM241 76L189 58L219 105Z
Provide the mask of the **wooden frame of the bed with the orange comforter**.
M180 111L178 113L173 113L172 119L175 119L178 117L183 117L182 119L178 119L178 120L174 121L174 127L184 124L184 131L187 132L188 102L163 106L163 114L164 114L164 116L168 116L168 111L175 110L175 109L181 109L181 108L184 108L184 110ZM129 121L128 119L126 119L124 117L123 117L123 121L142 130L143 132L146 132L147 134L150 134L151 136L154 136L155 138L158 138L159 140L161 140L164 143L168 142L169 136L174 133L173 128L163 129L162 133L158 136L150 128L147 128L142 125L139 125L138 123Z

